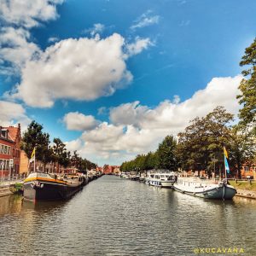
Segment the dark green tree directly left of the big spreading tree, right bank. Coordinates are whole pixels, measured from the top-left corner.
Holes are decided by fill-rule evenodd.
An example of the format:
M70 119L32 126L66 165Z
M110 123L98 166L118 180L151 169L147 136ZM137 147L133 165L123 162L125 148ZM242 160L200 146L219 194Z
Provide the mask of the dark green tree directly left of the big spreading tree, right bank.
M177 171L176 147L177 141L173 136L167 136L159 144L157 155L159 158L158 166L160 168Z

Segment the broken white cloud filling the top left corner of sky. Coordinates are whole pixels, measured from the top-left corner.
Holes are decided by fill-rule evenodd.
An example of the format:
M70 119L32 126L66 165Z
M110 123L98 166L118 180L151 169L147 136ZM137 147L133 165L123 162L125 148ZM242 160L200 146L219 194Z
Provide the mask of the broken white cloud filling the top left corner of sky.
M62 0L2 0L0 1L0 61L2 74L18 74L26 61L40 53L32 43L29 29L41 22L54 20L58 15L56 5ZM3 64L2 63L2 64Z

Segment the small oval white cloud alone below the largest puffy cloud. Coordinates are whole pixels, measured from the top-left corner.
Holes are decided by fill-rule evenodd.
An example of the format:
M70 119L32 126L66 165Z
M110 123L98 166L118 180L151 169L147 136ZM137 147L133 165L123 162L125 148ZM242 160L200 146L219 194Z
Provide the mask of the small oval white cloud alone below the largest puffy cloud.
M67 130L74 131L92 130L99 124L99 121L92 115L84 115L84 113L79 112L67 113L63 118L63 122L67 126Z

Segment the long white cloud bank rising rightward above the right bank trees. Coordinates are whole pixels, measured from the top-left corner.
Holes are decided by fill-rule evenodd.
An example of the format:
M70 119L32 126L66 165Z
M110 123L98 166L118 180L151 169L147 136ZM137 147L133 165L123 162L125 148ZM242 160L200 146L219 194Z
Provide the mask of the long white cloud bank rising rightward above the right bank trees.
M172 101L160 102L155 108L142 106L139 102L111 108L111 124L104 122L79 137L79 154L100 164L104 160L119 164L136 154L155 150L166 135L176 135L189 125L189 120L205 116L217 106L224 106L228 112L236 114L241 79L241 76L214 78L205 89L196 91L184 102L174 96Z

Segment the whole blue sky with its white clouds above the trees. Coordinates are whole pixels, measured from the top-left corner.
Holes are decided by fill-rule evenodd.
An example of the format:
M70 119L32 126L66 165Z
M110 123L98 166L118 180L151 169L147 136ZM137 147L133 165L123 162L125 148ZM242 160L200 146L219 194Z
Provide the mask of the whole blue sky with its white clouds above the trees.
M0 0L0 125L34 119L102 166L217 106L237 115L255 13L253 0Z

